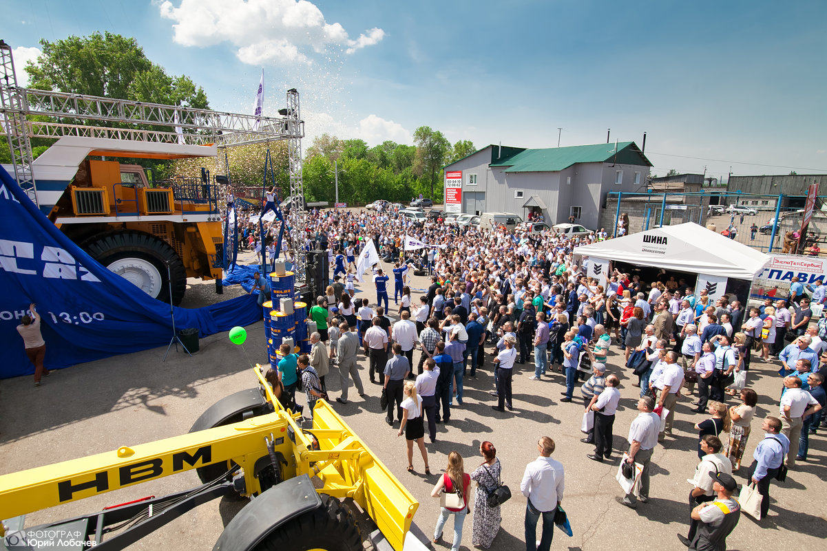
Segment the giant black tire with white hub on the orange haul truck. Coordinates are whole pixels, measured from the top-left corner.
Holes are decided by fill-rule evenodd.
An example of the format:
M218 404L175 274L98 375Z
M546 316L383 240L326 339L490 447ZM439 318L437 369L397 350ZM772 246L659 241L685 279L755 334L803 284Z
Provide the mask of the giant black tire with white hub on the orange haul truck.
M93 259L150 297L178 305L187 288L187 270L168 243L140 231L113 231L82 245ZM167 265L170 275L167 276Z

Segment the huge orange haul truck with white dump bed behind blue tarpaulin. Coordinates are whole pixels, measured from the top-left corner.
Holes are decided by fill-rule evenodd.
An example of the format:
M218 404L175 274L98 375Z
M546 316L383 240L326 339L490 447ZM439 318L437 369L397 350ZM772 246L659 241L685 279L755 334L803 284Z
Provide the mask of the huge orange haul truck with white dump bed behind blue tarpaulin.
M187 278L215 279L222 291L219 186L207 171L201 178L150 182L141 166L117 159L216 154L214 145L64 136L32 164L36 197L50 220L94 259L151 297L171 296L178 304Z

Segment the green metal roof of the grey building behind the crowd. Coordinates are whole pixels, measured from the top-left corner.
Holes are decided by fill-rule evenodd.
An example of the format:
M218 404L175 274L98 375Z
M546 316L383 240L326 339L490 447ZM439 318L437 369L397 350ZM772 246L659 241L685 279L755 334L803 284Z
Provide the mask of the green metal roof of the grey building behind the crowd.
M545 150L524 150L506 159L492 161L490 166L508 167L504 172L557 172L577 163L638 164L653 166L633 141L617 144L574 145Z

